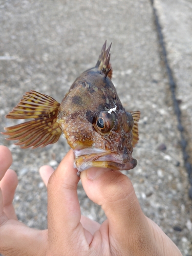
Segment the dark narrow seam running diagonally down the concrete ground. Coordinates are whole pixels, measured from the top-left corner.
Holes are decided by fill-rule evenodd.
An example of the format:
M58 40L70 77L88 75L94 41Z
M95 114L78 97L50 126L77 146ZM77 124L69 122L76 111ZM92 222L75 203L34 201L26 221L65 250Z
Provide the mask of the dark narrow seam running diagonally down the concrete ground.
M173 77L173 72L169 66L168 63L168 59L167 59L167 52L166 52L166 48L165 48L165 43L164 43L164 39L163 39L163 34L162 34L162 29L159 23L159 18L157 15L157 11L153 5L154 0L150 0L151 4L152 4L152 8L153 8L153 13L154 13L154 17L155 17L155 25L157 28L157 33L158 33L158 38L159 38L159 43L160 46L162 48L162 55L164 58L164 62L165 62L165 68L166 68L166 72L168 75L168 81L169 81L169 88L170 91L172 92L172 99L173 99L173 104L174 104L174 110L175 110L175 114L177 116L177 121L178 121L178 130L180 131L180 135L181 135L181 147L182 147L182 152L183 152L183 159L184 159L184 166L186 168L186 171L188 173L188 179L189 179L189 197L190 199L192 199L192 166L191 164L188 162L188 154L186 152L186 146L187 146L187 141L184 138L184 128L181 122L181 110L179 108L179 103L176 99L176 93L175 93L175 88L176 88L176 82L174 81L174 77Z

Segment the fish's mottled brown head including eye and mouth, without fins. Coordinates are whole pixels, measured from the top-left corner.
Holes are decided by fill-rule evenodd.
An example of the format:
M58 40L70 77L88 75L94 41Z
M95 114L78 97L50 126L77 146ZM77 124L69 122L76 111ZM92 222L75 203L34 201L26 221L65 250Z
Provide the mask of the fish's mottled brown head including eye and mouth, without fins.
M108 76L83 72L63 98L57 119L75 154L75 167L132 169L134 119L120 102Z

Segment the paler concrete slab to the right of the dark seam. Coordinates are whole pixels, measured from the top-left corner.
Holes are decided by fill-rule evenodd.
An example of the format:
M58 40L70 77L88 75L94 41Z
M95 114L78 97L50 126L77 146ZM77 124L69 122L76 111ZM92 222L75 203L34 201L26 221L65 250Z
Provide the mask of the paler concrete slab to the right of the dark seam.
M163 31L167 59L176 82L187 161L192 164L192 1L154 2ZM190 173L191 170L188 169Z

